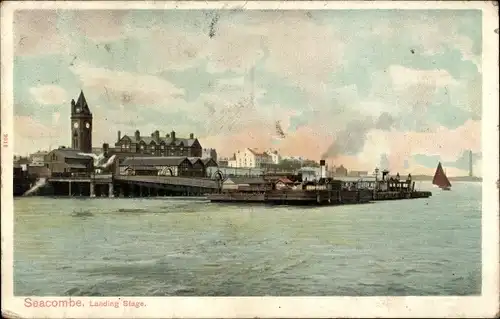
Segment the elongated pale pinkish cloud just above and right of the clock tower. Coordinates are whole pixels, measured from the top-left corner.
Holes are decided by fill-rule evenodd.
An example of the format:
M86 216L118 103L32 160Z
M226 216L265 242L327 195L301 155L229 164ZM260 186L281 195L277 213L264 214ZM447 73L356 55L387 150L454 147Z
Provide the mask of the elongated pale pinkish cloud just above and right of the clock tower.
M80 78L84 88L99 92L110 104L147 105L168 111L169 102L184 95L184 89L157 76L115 71L83 63L70 67L70 70Z

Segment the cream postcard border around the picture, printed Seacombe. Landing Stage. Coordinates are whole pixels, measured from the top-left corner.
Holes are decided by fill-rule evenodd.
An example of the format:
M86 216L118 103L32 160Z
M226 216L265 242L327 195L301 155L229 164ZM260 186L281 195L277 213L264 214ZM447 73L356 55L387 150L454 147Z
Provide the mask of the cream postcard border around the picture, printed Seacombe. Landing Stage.
M371 6L369 8L368 6ZM16 9L478 9L483 12L483 120L482 151L482 295L477 297L143 297L150 307L130 309L28 309L23 297L13 296L13 11ZM1 7L1 119L2 137L2 313L10 311L22 317L490 317L498 311L499 298L499 216L498 216L498 64L497 8L491 2L7 2ZM485 63L487 61L487 63ZM494 145L492 147L491 145ZM486 147L485 147L486 146ZM484 174L483 174L484 175ZM52 298L40 298L50 300ZM76 298L73 300L96 300Z

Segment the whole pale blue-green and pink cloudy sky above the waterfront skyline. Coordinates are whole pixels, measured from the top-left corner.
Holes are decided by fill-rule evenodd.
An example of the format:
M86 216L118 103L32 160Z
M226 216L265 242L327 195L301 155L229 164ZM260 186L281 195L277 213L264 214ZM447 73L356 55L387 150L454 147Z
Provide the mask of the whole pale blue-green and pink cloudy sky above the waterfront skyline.
M20 10L14 151L194 133L348 169L481 176L479 10ZM279 129L278 129L279 127ZM283 134L281 134L281 132Z

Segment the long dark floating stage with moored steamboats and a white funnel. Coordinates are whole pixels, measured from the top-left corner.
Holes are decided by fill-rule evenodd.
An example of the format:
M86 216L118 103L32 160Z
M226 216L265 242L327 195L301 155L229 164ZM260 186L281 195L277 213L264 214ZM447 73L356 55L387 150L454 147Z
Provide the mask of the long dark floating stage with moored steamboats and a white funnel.
M431 192L415 190L411 175L401 180L399 173L375 170L375 180L346 181L327 178L325 161L320 161L320 177L308 181L301 176L232 177L219 181L219 191L208 194L211 202L264 203L273 205L344 205L382 200L428 198Z

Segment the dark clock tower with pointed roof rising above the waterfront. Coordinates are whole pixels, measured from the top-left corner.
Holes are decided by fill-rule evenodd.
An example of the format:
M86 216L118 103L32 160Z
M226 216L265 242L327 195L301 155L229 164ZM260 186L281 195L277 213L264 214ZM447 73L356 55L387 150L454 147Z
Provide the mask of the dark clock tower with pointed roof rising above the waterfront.
M83 91L76 103L71 100L71 148L83 153L92 152L92 112Z

